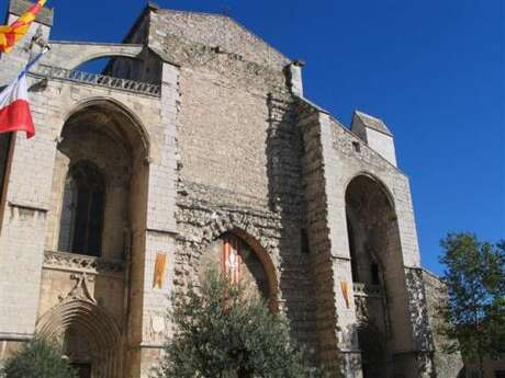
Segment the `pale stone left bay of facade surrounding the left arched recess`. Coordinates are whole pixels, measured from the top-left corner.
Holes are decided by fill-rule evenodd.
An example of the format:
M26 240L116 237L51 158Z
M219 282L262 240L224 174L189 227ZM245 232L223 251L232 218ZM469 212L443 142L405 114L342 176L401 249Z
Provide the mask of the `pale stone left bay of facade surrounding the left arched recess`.
M25 41L30 42L31 35L37 27L36 23L32 25ZM47 25L42 25L42 27L44 36L47 37L49 27ZM97 57L97 54L135 56L139 53L138 47L132 46L124 46L124 48L116 46L117 49L109 46L106 51L106 46L97 44L59 43L56 45L57 48L44 57L46 64L50 62L56 67L67 67L66 65L71 64L68 56L76 59L89 59ZM25 51L24 47L26 47L25 44L19 44L13 53L2 55L1 83L11 80L26 64L30 56L36 53L36 49ZM76 51L79 53L78 56ZM31 337L37 321L45 319L45 314L50 314L52 309L59 307L61 298L69 295L72 276L80 276L83 271L88 272L82 265L74 263L75 259L61 259L61 254L57 252L50 255L52 257L44 253L45 250L54 251L57 247L61 204L61 187L58 184L64 182L66 175L65 164L55 164L57 161L55 157L57 146L61 142L63 126L72 114L79 111L86 113L90 106L110 106L110 111L112 107L111 113L120 108L121 112L124 111L124 114L127 114L126 118L113 121L114 125L105 126L103 129L109 130L109 144L116 147L116 152L117 149L123 148L123 151L126 150L127 153L134 154L133 163L127 164L126 170L134 171L135 177L131 184L132 199L127 204L124 204L125 195L116 195L117 193L113 193L114 184L110 186L108 208L112 213L105 220L112 228L106 228L103 236L105 245L109 244L105 248L108 251L105 260L127 257L125 254L130 250L134 262L131 263L128 259L124 260L126 267L119 276L115 275L112 278L104 275L102 271L88 272L90 280L93 282L89 289L96 297L96 308L109 313L117 328L124 329L125 319L130 321L128 328L132 331L125 340L130 343L131 358L128 359L134 363L127 368L131 371L138 371L137 376L139 376L139 370L147 374L156 358L154 355L143 360L142 356L152 354L153 346L159 348L167 331L167 329L162 330L160 335L158 327L158 333L153 332L153 319L164 317L171 285L154 288L152 279L156 253L160 251L168 254L173 253L176 228L173 217L176 206L175 113L178 81L177 69L166 68L161 62L158 62L158 66L160 70L157 72L157 82L161 82L162 79L161 96L58 80L50 76L47 82L42 81L42 78L36 75L30 77L29 84L38 85L35 85L36 90L32 88L29 93L37 134L30 141L25 140L24 135L18 134L16 136L7 191L7 208L2 215L0 236L0 250L2 251L0 339L7 342L3 345L4 350L10 350L10 345L14 345L15 340ZM88 112L88 114L91 113L92 111ZM103 124L102 121L103 116L88 119L88 123L80 125L80 130L89 129L92 124ZM119 133L117 129L112 130L117 124L120 128L123 127ZM132 131L135 127L139 130L139 135ZM131 149L132 146L120 146L117 139L125 136L137 144L144 144L145 154L135 154L135 149ZM67 145L69 141L69 139L64 140L64 144ZM71 148L70 154L74 153L77 160L90 158L100 150L108 150L106 148L92 150L75 147ZM110 162L112 163L113 160ZM99 164L102 163L108 164L103 161L99 162ZM123 163L126 163L126 160ZM116 164L113 169L117 175L125 171L124 167L122 169L120 165ZM123 203L127 208L123 205L116 206L119 203ZM128 234L132 245L130 245L128 238L124 238ZM46 267L48 259L52 262L50 267ZM169 261L172 261L171 255ZM86 262L86 265L89 266L96 266L96 264L97 262ZM13 266L19 266L20 271L13 270ZM124 285L124 282L128 284ZM125 287L128 288L126 296ZM88 305L91 303L92 298L85 299ZM13 313L16 317L12 317ZM141 347L141 344L147 347L147 353ZM116 353L122 354L123 351L117 350ZM111 373L112 370L109 374Z

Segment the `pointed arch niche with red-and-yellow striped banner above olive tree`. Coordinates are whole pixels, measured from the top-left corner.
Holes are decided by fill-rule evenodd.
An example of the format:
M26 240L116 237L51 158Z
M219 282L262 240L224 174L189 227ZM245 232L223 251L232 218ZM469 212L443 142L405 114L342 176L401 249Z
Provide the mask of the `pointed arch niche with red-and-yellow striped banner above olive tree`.
M236 233L226 232L214 240L202 256L199 275L202 279L209 268L224 273L232 283L244 285L247 293L261 297L271 310L277 310L277 280L265 266L265 259L257 247Z

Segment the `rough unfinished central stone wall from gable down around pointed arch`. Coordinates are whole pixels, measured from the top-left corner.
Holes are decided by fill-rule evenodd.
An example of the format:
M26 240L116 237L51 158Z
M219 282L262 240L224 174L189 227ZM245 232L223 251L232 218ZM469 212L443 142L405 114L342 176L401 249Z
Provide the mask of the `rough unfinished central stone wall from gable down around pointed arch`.
M301 248L301 137L282 70L288 60L276 68L258 60L271 48L251 42L226 18L165 11L150 16L149 48L180 67L175 285L183 289L195 279L213 239L237 232L272 261L276 306L288 314L296 339L314 350L311 282ZM187 35L190 25L197 26ZM233 43L225 44L225 34Z

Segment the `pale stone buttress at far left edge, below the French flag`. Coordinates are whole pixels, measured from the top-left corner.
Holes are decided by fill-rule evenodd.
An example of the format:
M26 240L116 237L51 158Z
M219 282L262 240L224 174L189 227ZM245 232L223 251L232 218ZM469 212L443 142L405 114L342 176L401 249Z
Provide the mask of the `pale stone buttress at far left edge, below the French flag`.
M0 233L0 341L35 331L56 141L47 99L30 92L36 135L16 133Z

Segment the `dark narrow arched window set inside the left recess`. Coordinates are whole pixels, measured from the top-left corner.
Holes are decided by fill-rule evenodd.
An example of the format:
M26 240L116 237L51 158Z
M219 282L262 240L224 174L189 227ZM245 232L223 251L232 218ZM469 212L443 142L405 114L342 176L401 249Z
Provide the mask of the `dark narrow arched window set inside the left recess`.
M99 169L80 161L65 182L58 248L99 256L101 254L105 185Z

